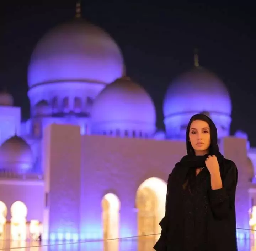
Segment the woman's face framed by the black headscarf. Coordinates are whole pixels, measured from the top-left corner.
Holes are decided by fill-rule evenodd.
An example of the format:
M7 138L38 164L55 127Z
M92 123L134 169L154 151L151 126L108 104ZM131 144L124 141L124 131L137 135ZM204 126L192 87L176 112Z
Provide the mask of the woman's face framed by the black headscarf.
M189 140L196 155L208 153L210 147L210 127L203 120L194 120L190 125Z

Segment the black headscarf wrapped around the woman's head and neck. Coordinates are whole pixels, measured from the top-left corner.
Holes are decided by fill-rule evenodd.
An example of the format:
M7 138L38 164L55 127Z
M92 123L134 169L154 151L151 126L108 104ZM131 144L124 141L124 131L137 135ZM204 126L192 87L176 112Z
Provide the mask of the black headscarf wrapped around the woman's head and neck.
M209 147L209 153L203 156L196 156L195 151L190 143L189 140L189 132L190 132L190 126L191 123L195 120L202 120L205 121L210 128L210 147ZM205 160L209 155L215 155L218 159L218 162L222 162L223 155L219 152L219 146L218 146L218 134L217 134L217 128L215 124L213 123L212 119L210 119L208 116L199 113L195 114L191 117L190 121L188 122L187 131L186 131L186 144L187 144L187 155L184 156L180 164L182 166L190 166L190 167L203 167L205 166Z

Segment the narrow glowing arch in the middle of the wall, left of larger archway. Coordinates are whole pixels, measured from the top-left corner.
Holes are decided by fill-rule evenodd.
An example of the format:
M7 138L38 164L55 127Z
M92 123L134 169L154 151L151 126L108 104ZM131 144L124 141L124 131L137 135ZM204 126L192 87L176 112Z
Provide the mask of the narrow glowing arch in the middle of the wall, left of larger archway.
M119 238L120 200L115 194L106 194L101 202L103 239Z

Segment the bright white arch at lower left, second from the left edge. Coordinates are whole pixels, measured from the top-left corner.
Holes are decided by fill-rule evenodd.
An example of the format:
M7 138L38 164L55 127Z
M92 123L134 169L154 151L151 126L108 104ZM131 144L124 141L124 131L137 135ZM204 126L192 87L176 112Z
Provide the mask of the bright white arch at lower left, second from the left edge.
M26 240L27 238L27 207L21 201L16 201L11 206L11 239Z

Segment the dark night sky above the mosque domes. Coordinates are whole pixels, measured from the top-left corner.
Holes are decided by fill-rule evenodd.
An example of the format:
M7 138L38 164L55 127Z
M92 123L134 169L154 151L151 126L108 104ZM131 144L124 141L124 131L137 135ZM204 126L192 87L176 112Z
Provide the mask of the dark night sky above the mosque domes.
M27 66L33 48L50 28L75 16L74 0L44 2L1 4L1 87L22 107L24 119L29 117ZM174 77L192 68L197 47L199 63L217 73L229 89L231 132L244 130L256 146L254 5L147 2L86 0L82 1L82 16L116 40L128 75L142 84L155 102L158 128L163 128L166 89Z

